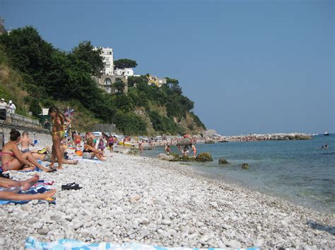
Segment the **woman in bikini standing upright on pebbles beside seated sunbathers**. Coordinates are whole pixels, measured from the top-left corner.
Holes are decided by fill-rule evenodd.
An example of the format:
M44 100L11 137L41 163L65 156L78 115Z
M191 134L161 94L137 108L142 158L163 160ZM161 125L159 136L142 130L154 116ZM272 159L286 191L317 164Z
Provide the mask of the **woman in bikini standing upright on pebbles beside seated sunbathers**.
M52 118L52 161L50 168L54 168L54 163L58 163L58 169L63 168L61 165L61 140L64 139L64 116L61 115L59 109L55 106L49 108L49 115Z

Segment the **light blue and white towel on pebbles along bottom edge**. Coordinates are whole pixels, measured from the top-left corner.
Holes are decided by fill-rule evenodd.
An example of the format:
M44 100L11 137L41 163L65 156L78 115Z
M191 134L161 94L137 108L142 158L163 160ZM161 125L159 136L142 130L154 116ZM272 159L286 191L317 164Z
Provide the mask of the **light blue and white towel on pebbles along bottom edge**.
M116 249L135 249L135 250L193 250L192 248L186 247L163 247L163 246L151 246L139 243L124 243L124 244L112 244L112 243L86 243L80 242L76 239L59 239L55 242L39 242L33 237L25 239L25 249L90 249L90 250L116 250ZM208 250L214 250L210 248ZM256 250L259 248L249 248L249 250ZM218 249L216 249L218 250Z

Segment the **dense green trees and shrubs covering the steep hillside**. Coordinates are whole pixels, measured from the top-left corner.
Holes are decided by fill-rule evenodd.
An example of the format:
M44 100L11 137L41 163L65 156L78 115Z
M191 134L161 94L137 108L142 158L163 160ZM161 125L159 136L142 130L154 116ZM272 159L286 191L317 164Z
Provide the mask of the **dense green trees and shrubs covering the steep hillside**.
M137 65L129 59L117 63L120 68ZM150 127L157 133L172 135L196 129L194 126L198 130L205 128L194 113L189 113L194 102L182 95L175 79L166 78L167 84L158 88L148 85L146 75L129 77L128 94L123 93L123 82L115 83L117 94L102 91L94 80L103 68L102 57L100 50L94 50L88 41L65 52L42 39L35 28L19 28L0 35L0 65L20 75L16 87L23 89L23 93L11 95L6 87L2 91L7 91L11 95L8 98L16 101L18 109L23 111L38 113L41 107L64 108L71 104L94 122L115 123L127 135L146 135ZM24 99L24 106L19 99ZM145 112L140 115L139 110ZM187 117L193 120L193 125L177 124ZM150 123L146 122L148 119ZM81 128L89 129L88 125L91 124L86 120Z

